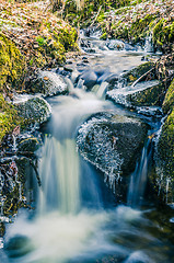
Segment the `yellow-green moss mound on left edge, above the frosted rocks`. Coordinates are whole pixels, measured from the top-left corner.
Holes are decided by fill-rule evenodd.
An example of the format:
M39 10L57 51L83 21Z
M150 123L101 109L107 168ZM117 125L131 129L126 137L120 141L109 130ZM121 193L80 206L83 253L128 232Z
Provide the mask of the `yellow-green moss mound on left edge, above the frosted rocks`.
M0 91L22 85L25 60L15 44L0 32Z

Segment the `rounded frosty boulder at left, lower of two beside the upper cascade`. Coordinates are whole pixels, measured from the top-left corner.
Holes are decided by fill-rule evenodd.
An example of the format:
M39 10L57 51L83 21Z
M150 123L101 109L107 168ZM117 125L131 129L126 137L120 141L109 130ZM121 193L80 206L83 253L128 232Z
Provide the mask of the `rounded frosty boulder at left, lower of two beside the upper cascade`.
M33 98L25 102L19 102L15 107L19 115L24 119L23 128L45 123L51 113L49 104L43 98Z

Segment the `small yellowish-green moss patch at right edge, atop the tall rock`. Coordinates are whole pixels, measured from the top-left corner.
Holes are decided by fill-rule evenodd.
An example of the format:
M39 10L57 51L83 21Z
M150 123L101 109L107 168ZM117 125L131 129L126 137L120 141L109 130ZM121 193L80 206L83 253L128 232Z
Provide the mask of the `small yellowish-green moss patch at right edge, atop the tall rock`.
M174 108L174 80L172 81L163 102L163 112L167 113Z

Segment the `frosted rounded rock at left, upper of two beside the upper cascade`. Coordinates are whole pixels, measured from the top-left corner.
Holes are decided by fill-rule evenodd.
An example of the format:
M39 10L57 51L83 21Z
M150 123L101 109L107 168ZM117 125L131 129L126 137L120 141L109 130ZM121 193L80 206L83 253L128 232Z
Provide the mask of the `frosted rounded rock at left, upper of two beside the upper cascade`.
M44 96L65 94L68 92L63 79L56 72L49 70L40 70L26 82L26 87L33 93L42 93Z

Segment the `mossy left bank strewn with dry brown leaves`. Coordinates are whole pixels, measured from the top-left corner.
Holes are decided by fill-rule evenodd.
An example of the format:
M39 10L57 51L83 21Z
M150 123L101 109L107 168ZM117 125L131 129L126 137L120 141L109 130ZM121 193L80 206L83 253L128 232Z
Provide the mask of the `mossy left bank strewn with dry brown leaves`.
M20 124L7 102L25 92L27 77L37 68L54 67L66 53L78 50L78 33L47 11L47 2L0 2L0 141ZM4 99L5 100L4 100Z

